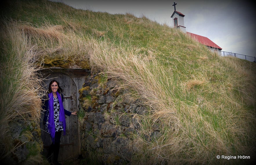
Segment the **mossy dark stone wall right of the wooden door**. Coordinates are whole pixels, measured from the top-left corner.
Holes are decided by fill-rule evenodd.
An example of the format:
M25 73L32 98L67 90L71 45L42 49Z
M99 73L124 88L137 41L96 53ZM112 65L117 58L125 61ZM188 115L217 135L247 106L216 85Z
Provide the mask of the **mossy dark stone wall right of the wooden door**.
M88 76L79 90L84 112L80 120L82 156L94 155L103 164L128 164L137 151L133 135L141 127L136 116L144 115L147 109L122 97L114 81L99 84L98 78ZM159 132L154 131L152 135Z

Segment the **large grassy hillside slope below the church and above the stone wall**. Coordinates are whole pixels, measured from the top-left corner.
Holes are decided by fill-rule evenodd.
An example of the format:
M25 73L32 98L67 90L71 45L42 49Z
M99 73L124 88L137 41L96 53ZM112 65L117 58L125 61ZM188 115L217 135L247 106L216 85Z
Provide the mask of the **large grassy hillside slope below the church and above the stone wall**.
M230 163L255 153L256 65L212 54L185 34L145 17L77 10L50 1L12 1L4 16L45 66L91 68L143 100L141 162ZM7 21L8 23L9 20ZM13 23L10 23L13 25ZM18 28L17 28L18 27ZM64 62L63 62L64 61ZM61 62L61 63L60 63ZM143 122L144 121L144 122ZM226 162L227 161L227 162Z

